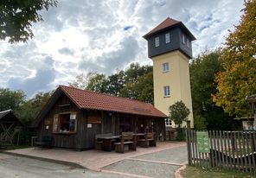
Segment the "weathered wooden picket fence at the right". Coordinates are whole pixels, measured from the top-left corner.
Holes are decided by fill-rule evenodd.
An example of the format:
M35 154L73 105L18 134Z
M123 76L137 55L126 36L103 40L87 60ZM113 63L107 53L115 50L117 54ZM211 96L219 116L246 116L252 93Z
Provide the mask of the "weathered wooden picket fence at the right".
M256 132L209 130L207 151L202 151L198 131L187 130L189 165L228 168L256 173Z

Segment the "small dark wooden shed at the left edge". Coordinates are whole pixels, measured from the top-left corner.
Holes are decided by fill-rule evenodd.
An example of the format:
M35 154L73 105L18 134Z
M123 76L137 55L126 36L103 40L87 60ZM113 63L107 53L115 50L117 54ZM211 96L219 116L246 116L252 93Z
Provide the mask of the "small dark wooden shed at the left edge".
M0 111L0 145L14 144L16 136L18 144L22 126L22 122L16 118L12 110Z

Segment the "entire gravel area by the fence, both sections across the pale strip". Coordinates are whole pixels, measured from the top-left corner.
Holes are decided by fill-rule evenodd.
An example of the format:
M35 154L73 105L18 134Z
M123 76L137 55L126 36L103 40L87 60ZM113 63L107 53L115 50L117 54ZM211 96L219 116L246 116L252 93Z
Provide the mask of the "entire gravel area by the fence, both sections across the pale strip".
M143 156L136 156L133 158L157 162L143 162L132 160L131 158L121 162L116 162L112 165L106 166L103 169L155 178L172 178L175 177L175 171L177 168L180 168L180 166L159 162L171 162L177 164L187 162L187 149L186 146L182 146L179 148L167 149Z

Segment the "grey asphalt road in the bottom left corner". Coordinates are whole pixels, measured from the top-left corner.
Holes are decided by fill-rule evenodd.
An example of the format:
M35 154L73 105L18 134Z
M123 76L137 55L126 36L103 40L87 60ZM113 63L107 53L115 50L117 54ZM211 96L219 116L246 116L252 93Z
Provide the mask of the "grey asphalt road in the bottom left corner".
M120 178L124 175L94 172L83 168L73 168L53 162L43 162L20 156L0 153L0 178Z

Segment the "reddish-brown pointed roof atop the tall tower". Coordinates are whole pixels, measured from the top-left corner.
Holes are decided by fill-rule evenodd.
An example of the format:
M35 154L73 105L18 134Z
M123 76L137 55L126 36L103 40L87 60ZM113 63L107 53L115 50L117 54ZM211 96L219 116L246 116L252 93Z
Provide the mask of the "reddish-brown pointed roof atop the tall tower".
M172 29L174 27L180 27L181 29L183 29L185 31L185 33L187 33L189 35L191 41L195 40L195 36L191 34L189 29L187 29L186 26L181 21L176 21L175 19L172 19L170 17L167 17L163 22L158 24L157 27L150 30L150 32L147 33L146 35L144 35L143 37L145 39L147 39L151 35L155 35L159 32L164 31L165 29Z

